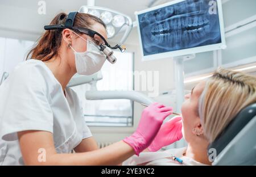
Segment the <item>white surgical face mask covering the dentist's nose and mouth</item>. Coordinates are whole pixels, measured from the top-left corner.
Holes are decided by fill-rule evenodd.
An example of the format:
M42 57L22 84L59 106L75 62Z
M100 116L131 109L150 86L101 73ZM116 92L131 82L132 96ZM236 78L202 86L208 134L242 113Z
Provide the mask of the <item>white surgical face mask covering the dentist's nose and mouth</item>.
M77 33L75 34L77 35ZM82 37L81 39L85 40ZM77 73L82 75L92 75L102 68L102 65L106 61L106 56L96 47L96 44L93 44L92 41L85 41L87 41L87 50L85 52L76 52L72 47L71 49L75 54Z

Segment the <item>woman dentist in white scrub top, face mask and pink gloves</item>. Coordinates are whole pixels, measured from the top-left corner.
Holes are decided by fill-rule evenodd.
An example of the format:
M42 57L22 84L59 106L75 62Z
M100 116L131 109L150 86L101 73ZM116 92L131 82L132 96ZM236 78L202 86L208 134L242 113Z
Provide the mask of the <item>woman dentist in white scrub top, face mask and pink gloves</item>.
M60 13L51 25L63 25L66 19L67 14ZM0 165L118 165L151 144L155 149L154 142L158 150L164 135L181 132L180 120L161 130L172 108L153 103L143 110L130 137L98 149L78 96L66 86L75 73L90 75L101 69L106 57L97 45L104 44L106 26L82 13L74 16L72 26L44 32L28 54L32 59L16 66L1 85ZM158 132L164 135L156 136ZM171 136L162 146L181 136Z

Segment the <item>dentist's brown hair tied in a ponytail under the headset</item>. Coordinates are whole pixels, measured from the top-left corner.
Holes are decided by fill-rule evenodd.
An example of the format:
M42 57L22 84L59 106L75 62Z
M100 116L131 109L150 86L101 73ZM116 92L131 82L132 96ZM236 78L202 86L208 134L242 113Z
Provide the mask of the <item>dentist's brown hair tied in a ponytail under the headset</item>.
M59 13L52 19L50 25L53 24L65 24L67 14ZM96 16L84 13L77 13L74 21L74 27L90 28L92 24L100 23L106 28L105 23ZM61 29L47 30L35 43L34 47L28 52L26 60L33 58L36 60L47 61L52 57L58 56L61 40ZM79 32L77 32L79 33ZM81 34L81 33L80 33Z

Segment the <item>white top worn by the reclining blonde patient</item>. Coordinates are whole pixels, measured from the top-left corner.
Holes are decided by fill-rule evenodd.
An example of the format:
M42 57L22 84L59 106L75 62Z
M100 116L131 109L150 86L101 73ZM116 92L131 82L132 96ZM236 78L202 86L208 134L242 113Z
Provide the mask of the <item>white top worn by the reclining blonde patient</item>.
M144 165L144 166L205 166L205 164L195 161L192 158L183 156L187 147L179 148L179 149L168 149L164 151L156 151L156 152L146 152L137 155L133 155L122 165ZM174 161L172 159L172 155L183 160L183 164Z

